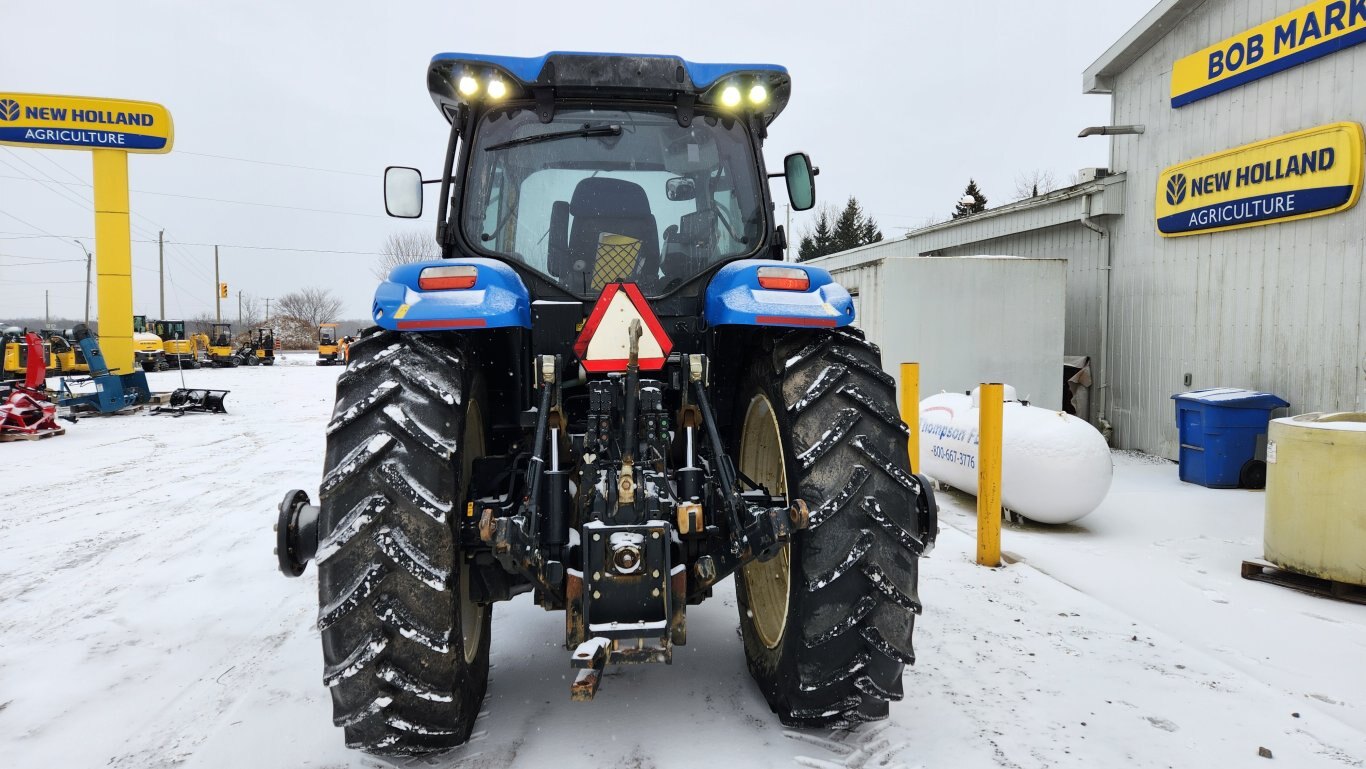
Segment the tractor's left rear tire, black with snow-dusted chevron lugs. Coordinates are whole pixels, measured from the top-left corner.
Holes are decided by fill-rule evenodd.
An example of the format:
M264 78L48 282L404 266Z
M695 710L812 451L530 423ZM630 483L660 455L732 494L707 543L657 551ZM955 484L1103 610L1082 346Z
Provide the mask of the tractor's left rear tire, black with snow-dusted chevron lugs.
M459 341L377 332L354 347L328 426L318 627L350 747L411 755L469 739L492 606L470 600L455 535L484 453L484 391Z

